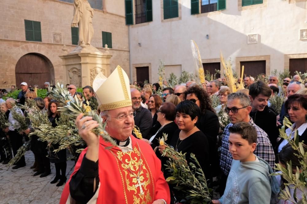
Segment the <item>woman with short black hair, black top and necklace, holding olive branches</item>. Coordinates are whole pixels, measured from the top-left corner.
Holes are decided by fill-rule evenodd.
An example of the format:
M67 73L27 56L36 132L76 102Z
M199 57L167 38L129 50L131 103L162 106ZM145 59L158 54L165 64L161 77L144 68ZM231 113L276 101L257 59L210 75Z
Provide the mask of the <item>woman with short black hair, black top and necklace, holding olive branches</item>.
M163 106L163 105L162 105ZM207 137L200 131L196 123L200 116L200 108L192 101L182 101L176 107L176 121L179 130L173 134L173 138L167 143L172 146L177 152L186 153L185 159L187 163L193 163L191 153L195 154L201 169L204 171L206 179L210 178L209 173L209 147ZM159 152L162 153L165 145L158 146ZM162 160L162 163L165 161ZM182 193L171 187L177 201L181 200Z

